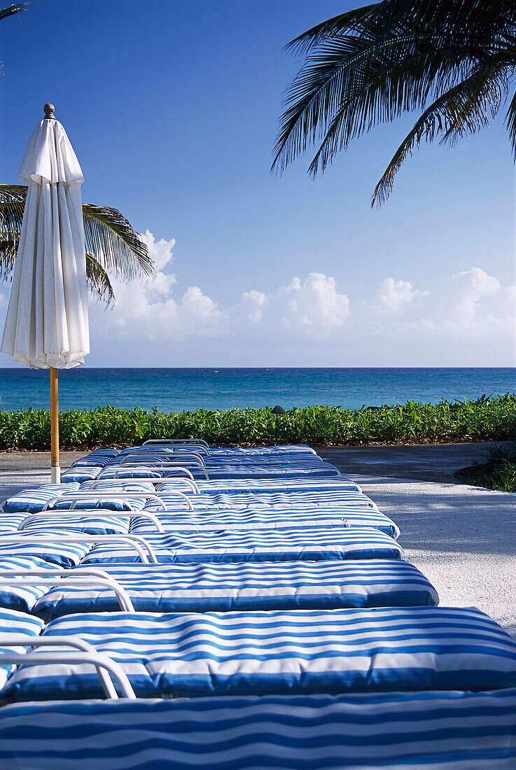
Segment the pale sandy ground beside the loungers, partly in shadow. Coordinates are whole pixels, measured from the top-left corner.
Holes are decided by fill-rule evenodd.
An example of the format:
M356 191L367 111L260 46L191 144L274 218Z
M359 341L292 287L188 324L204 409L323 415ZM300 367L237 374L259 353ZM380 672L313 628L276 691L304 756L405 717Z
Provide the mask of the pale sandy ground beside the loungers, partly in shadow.
M481 462L489 444L330 447L340 467L397 522L409 561L437 588L441 604L475 606L516 637L516 494L467 487L457 468ZM83 453L62 454L62 467ZM0 454L0 500L48 484L49 454Z

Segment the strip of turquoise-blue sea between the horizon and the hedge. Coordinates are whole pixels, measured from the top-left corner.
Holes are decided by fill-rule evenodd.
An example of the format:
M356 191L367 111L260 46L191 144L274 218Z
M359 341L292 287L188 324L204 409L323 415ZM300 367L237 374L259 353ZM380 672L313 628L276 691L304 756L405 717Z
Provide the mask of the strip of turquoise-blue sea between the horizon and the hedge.
M348 408L516 392L516 369L93 369L59 374L59 408ZM0 369L0 407L49 408L48 370Z

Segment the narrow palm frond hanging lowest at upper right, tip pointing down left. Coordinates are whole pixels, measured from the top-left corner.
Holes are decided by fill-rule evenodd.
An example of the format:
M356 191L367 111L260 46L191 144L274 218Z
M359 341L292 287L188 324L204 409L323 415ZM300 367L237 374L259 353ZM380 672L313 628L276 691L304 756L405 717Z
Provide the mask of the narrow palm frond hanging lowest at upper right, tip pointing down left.
M431 142L440 133L443 139L449 139L453 134L471 134L488 125L500 105L498 99L493 97L493 85L498 89L496 74L491 69L477 70L464 82L457 83L442 94L424 111L394 153L375 187L371 206L387 200L392 192L394 176L423 139Z

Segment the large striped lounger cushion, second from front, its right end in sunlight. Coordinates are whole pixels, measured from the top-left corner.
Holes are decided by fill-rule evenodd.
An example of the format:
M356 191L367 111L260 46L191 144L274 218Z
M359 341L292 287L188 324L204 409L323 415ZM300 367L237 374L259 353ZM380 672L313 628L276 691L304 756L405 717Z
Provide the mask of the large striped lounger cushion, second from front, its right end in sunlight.
M474 609L88 613L43 634L89 641L149 698L516 687L516 640ZM102 688L89 666L27 665L2 695L98 698Z

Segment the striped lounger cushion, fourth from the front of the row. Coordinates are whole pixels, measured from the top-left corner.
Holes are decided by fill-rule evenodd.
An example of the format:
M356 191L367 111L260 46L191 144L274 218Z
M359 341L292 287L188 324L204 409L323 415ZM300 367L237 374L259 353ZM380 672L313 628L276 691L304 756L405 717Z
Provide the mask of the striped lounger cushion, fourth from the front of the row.
M145 539L162 564L403 558L403 549L392 537L370 527L212 530L148 534ZM99 544L92 547L82 564L109 561L129 563L139 561L139 557L123 543Z

